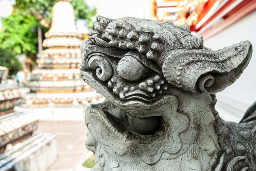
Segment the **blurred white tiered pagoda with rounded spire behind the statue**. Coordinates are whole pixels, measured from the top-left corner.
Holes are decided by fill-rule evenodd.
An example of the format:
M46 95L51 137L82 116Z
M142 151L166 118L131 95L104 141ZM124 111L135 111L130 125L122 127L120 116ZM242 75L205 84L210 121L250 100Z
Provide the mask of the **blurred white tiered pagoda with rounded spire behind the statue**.
M97 102L101 95L81 79L80 44L70 0L58 0L52 9L52 25L39 53L38 69L31 74L27 104L79 105Z

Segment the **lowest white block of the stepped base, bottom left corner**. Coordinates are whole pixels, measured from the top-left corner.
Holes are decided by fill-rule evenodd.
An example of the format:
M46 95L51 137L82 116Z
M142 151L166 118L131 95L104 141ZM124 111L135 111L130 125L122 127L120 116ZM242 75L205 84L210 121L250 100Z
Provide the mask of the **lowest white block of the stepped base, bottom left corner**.
M0 171L46 171L56 158L55 135L40 132L0 154Z

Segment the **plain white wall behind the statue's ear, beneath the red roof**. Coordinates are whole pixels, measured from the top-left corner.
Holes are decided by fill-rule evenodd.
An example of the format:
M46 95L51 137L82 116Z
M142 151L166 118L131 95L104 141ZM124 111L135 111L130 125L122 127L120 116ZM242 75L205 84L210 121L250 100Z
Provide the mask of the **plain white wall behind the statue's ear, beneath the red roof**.
M243 117L256 100L256 11L204 42L206 47L220 49L243 40L249 40L253 45L252 59L233 85L217 93L216 109L220 116L235 122Z

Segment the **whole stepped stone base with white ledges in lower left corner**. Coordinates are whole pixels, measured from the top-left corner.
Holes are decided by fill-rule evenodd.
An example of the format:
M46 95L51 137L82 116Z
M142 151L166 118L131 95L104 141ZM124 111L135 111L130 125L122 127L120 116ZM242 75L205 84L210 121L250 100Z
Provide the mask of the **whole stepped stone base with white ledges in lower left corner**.
M38 133L34 114L15 112L20 89L0 85L0 171L46 170L56 159L55 136Z

